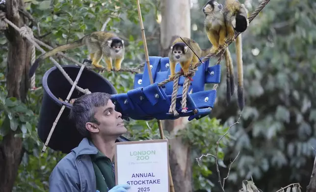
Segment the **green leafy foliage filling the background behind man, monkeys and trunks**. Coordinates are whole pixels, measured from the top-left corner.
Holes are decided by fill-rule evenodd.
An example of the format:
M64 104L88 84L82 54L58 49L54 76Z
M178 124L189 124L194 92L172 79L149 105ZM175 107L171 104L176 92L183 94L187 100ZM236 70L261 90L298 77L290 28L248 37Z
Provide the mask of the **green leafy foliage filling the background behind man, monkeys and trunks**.
M191 38L202 48L211 46L203 29L201 8L206 1L191 0ZM24 2L26 11L34 19L32 29L35 37L47 34L40 40L52 47L100 30L108 21L106 30L116 32L128 42L123 67L135 67L144 61L135 1ZM242 2L252 12L261 1ZM149 55L158 56L159 1L141 1L141 10ZM316 147L315 14L314 0L273 0L243 34L246 107L240 123L231 128L219 147L219 158L223 160L219 162L222 175L226 175L230 160L240 152L226 182L227 192L237 191L242 187L241 181L251 177L264 192L277 191L290 183L300 183L302 191L306 190L316 155L312 148ZM234 46L230 49L233 54ZM43 157L39 156L43 144L38 139L36 126L43 90L29 91L24 103L8 97L5 76L8 42L4 33L0 33L0 50L0 144L11 129L21 130L16 136L23 138L24 146L13 191L47 191L49 175L64 154L48 148ZM36 51L37 56L40 54ZM85 48L78 48L67 51L67 55L82 61L88 52ZM58 58L58 62L66 64L62 58ZM43 63L36 71L37 87L41 86L44 72L53 67L48 59ZM224 74L224 67L222 69ZM131 73L104 72L103 75L114 84L118 93L132 89L134 75ZM222 75L222 82L225 82L225 75ZM218 101L210 117L192 120L187 129L179 133L192 147L194 191L220 191L214 159L203 158L198 166L195 158L202 153L214 154L216 141L238 118L236 95L227 106L225 86L222 83L217 89ZM129 134L126 136L131 140L159 138L156 120L131 120L127 127Z

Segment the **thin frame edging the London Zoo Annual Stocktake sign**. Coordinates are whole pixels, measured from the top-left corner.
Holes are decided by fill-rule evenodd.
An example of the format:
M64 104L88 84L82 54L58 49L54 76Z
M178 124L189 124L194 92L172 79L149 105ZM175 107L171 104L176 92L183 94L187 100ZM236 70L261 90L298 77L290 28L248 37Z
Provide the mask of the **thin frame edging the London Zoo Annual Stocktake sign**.
M157 140L140 140L140 141L130 141L130 142L117 142L114 144L114 168L115 168L115 185L118 185L118 165L117 165L117 145L129 145L129 144L151 144L151 143L167 143L167 183L168 183L168 191L170 192L170 177L169 177L169 142L167 139L157 139Z

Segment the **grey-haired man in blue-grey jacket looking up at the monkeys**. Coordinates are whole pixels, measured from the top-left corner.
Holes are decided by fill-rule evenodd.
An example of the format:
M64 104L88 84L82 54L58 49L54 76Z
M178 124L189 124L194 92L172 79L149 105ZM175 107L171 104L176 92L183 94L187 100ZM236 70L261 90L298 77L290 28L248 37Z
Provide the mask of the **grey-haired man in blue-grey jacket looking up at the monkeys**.
M115 140L127 131L114 107L106 93L75 100L69 118L84 139L53 169L50 192L127 192L129 185L115 186L111 163Z

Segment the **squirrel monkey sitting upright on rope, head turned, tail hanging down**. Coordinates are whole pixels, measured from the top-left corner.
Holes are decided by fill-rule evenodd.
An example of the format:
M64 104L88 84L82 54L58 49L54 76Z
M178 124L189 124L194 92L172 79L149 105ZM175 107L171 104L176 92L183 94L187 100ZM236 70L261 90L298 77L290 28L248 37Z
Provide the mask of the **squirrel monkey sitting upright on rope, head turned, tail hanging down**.
M209 0L202 8L205 14L204 28L212 47L203 49L202 55L218 52L218 48L226 46L227 29L223 12L223 5L216 0ZM231 96L235 91L233 61L228 48L225 49L225 65L226 65L226 101L230 102Z

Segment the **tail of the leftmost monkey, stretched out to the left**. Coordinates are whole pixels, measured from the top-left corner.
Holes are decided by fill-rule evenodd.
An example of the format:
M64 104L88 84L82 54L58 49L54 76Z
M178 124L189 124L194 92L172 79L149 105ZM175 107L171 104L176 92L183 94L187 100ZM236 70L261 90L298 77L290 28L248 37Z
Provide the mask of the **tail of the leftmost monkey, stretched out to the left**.
M79 39L78 41L75 41L73 43L69 43L69 44L65 44L65 45L62 45L62 46L58 46L56 48L53 48L52 50L50 51L47 51L46 53L42 54L41 56L39 56L35 62L32 64L31 68L29 69L29 72L28 72L28 76L29 78L31 76L33 76L33 74L35 73L36 69L39 67L39 63L46 59L47 57L50 57L54 54L56 54L57 52L61 52L61 51L64 51L64 50L67 50L67 49L71 49L71 48L78 48L78 47L81 47L84 45L84 39L85 37Z

